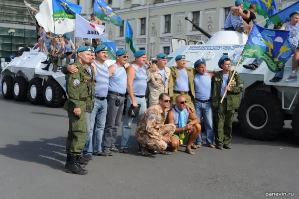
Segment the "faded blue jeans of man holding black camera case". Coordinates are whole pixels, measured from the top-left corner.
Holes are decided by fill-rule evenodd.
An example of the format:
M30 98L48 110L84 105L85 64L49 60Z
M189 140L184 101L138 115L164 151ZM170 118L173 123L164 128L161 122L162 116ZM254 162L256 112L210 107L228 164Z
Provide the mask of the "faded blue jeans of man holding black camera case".
M146 98L136 98L136 97L135 97L135 101L136 101L136 103L141 104L139 115L137 117L137 125L138 125L139 120L144 115L144 113L147 109L147 101L146 101ZM125 114L124 123L123 123L123 130L122 130L121 149L129 148L129 138L131 136L131 131L132 131L131 124L134 119L134 117L130 117L128 115L128 111L129 111L129 108L131 107L131 104L132 104L132 100L128 96L126 114Z

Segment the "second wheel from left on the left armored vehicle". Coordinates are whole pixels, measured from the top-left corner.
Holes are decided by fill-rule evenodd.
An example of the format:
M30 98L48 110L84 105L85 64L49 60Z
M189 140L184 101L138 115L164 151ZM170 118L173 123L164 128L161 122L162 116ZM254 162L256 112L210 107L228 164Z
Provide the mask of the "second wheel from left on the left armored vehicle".
M27 100L28 82L22 76L13 79L13 99L16 101Z

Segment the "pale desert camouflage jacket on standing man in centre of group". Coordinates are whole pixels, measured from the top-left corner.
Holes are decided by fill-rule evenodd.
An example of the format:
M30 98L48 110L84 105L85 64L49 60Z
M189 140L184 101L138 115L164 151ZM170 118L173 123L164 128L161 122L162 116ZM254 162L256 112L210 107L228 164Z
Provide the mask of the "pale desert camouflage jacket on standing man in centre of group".
M164 80L162 79L162 75L159 71L151 73L149 70L148 75L148 88L149 88L149 104L157 104L158 98L161 93L168 94L168 84L170 81L170 69L165 67L165 84Z

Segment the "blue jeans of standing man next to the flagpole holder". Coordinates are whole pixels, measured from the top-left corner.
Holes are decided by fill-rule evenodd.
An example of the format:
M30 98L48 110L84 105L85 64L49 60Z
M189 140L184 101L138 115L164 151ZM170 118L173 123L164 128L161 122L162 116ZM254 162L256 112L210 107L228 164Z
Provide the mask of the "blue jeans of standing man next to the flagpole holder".
M199 119L203 116L204 127L206 131L206 143L207 145L213 144L214 142L214 131L213 131L213 110L211 101L203 103L200 101L194 102L195 111ZM202 133L196 138L195 144L202 143Z

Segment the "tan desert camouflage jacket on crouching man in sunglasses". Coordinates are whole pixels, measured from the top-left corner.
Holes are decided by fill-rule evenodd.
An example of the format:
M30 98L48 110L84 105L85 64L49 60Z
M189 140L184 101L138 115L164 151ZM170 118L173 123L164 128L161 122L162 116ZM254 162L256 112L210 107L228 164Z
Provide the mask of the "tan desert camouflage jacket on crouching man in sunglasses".
M164 112L159 104L150 106L140 119L136 128L136 137L149 136L150 138L160 140L163 136L158 130L164 125L167 110Z

